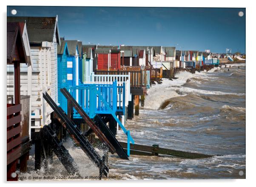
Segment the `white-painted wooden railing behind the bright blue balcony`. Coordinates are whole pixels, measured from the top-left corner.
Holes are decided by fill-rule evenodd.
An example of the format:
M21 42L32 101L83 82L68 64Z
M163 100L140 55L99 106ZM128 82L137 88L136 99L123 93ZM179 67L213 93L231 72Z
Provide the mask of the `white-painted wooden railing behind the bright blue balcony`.
M131 92L130 92L130 73L128 75L95 75L94 72L91 74L91 82L84 82L85 84L113 84L117 80L117 86L122 86L125 82L125 106L128 106L128 101L131 101ZM118 88L122 89L122 88ZM119 93L121 96L119 96ZM123 91L117 92L117 103L122 105L122 95ZM119 98L121 102L119 102Z

